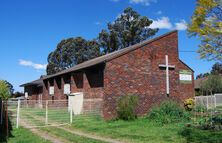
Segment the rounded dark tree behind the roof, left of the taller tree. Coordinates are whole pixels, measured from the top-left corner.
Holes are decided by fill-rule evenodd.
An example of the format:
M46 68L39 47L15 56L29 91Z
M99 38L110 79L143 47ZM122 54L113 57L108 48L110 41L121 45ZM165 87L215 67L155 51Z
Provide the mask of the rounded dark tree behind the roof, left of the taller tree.
M47 74L68 69L100 55L96 40L87 41L82 37L62 40L55 51L48 55Z

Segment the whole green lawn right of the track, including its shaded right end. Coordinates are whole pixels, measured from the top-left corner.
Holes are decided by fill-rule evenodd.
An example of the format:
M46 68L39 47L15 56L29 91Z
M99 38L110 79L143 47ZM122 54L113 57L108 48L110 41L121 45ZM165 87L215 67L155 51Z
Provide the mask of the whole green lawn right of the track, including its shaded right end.
M212 132L186 127L187 123L158 125L146 118L135 121L104 121L75 117L71 128L135 143L221 143L222 131Z

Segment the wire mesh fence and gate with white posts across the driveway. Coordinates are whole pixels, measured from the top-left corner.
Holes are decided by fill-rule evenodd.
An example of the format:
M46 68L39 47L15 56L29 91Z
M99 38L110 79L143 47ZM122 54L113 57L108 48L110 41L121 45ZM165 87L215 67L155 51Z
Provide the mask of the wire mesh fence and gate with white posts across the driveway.
M7 102L7 103L6 103ZM83 102L82 104L80 104ZM4 101L8 117L14 127L26 128L61 126L83 118L101 117L101 99L68 100L22 100Z

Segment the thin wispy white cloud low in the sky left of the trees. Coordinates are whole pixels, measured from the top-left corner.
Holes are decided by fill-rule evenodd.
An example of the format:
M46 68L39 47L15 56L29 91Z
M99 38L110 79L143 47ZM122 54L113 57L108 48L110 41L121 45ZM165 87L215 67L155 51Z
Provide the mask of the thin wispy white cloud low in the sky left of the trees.
M37 63L33 63L32 61L27 61L27 60L23 60L23 59L19 60L19 65L32 67L37 70L45 70L46 66L47 66L47 64L37 64Z

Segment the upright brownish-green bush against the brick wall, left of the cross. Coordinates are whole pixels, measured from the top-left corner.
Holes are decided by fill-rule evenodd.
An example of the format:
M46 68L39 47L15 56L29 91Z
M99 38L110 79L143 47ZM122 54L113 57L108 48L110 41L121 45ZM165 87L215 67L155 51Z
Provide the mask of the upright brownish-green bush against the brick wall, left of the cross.
M125 95L119 98L117 105L117 118L122 120L134 120L137 118L135 108L138 104L138 97Z

